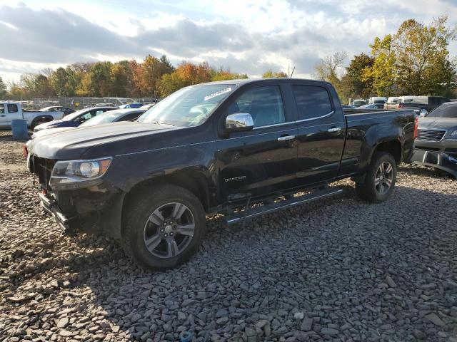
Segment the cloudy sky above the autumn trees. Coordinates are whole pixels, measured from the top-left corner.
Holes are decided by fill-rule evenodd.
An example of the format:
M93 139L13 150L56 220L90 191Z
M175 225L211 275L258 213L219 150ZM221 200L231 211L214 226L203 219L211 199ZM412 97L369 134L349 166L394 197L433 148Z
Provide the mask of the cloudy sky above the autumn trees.
M404 20L441 14L456 26L457 0L0 0L0 76L166 54L175 66L208 61L251 78L295 67L293 76L311 77L320 58L346 51L347 65ZM455 56L457 43L449 48Z

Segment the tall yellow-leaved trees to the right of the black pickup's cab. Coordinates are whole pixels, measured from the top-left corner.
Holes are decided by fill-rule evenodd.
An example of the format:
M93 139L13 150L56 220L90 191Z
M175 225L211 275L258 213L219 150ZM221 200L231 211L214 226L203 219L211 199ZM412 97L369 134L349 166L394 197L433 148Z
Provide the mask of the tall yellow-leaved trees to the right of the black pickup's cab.
M395 34L374 38L371 53L353 56L346 68L344 51L322 58L314 67L315 78L333 83L343 102L370 96L455 96L457 63L448 45L457 31L447 21L447 16L429 26L403 21Z

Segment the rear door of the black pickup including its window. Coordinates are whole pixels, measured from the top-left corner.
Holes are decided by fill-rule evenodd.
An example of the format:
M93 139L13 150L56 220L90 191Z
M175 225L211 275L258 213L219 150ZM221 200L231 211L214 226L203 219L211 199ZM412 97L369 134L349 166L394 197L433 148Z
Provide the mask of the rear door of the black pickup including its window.
M337 95L327 83L291 87L298 119L298 180L303 185L332 180L338 174L346 131L340 105L332 100Z

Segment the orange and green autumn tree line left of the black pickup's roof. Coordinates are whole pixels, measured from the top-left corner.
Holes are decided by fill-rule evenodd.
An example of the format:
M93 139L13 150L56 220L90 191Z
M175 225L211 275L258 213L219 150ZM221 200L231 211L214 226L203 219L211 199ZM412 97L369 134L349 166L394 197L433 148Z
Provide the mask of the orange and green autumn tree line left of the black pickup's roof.
M213 68L209 63L183 61L175 68L166 56L146 56L143 61L74 63L66 68L24 73L9 90L0 78L0 98L12 100L48 97L164 97L184 86L197 83L247 78L230 69Z

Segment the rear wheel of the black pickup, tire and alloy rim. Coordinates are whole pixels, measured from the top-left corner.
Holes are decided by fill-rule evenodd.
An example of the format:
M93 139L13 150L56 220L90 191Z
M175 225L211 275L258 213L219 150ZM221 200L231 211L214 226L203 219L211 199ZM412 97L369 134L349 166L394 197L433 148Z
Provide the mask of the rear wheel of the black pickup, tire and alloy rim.
M363 181L356 182L358 195L371 203L384 202L397 180L396 161L388 152L374 152Z

